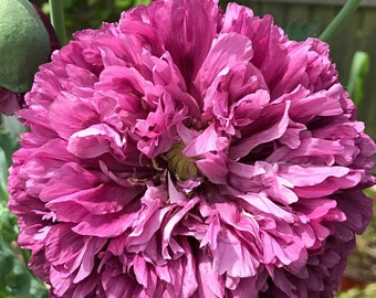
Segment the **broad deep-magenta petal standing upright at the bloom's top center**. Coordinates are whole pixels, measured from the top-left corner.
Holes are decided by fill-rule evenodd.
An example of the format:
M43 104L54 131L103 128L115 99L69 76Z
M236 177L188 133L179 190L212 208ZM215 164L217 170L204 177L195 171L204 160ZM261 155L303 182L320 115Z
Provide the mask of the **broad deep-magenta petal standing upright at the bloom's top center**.
M195 77L219 25L213 1L159 2L150 6L154 25L187 82ZM165 15L174 15L167 21ZM176 28L181 30L176 31ZM175 32L173 34L173 32ZM195 46L200 44L199 47Z

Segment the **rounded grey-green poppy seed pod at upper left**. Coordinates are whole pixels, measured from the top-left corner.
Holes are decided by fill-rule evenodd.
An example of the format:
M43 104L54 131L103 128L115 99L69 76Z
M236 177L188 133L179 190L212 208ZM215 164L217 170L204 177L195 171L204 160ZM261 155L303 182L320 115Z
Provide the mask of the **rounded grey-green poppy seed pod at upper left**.
M33 6L28 0L1 0L0 86L28 92L50 53L49 33Z

